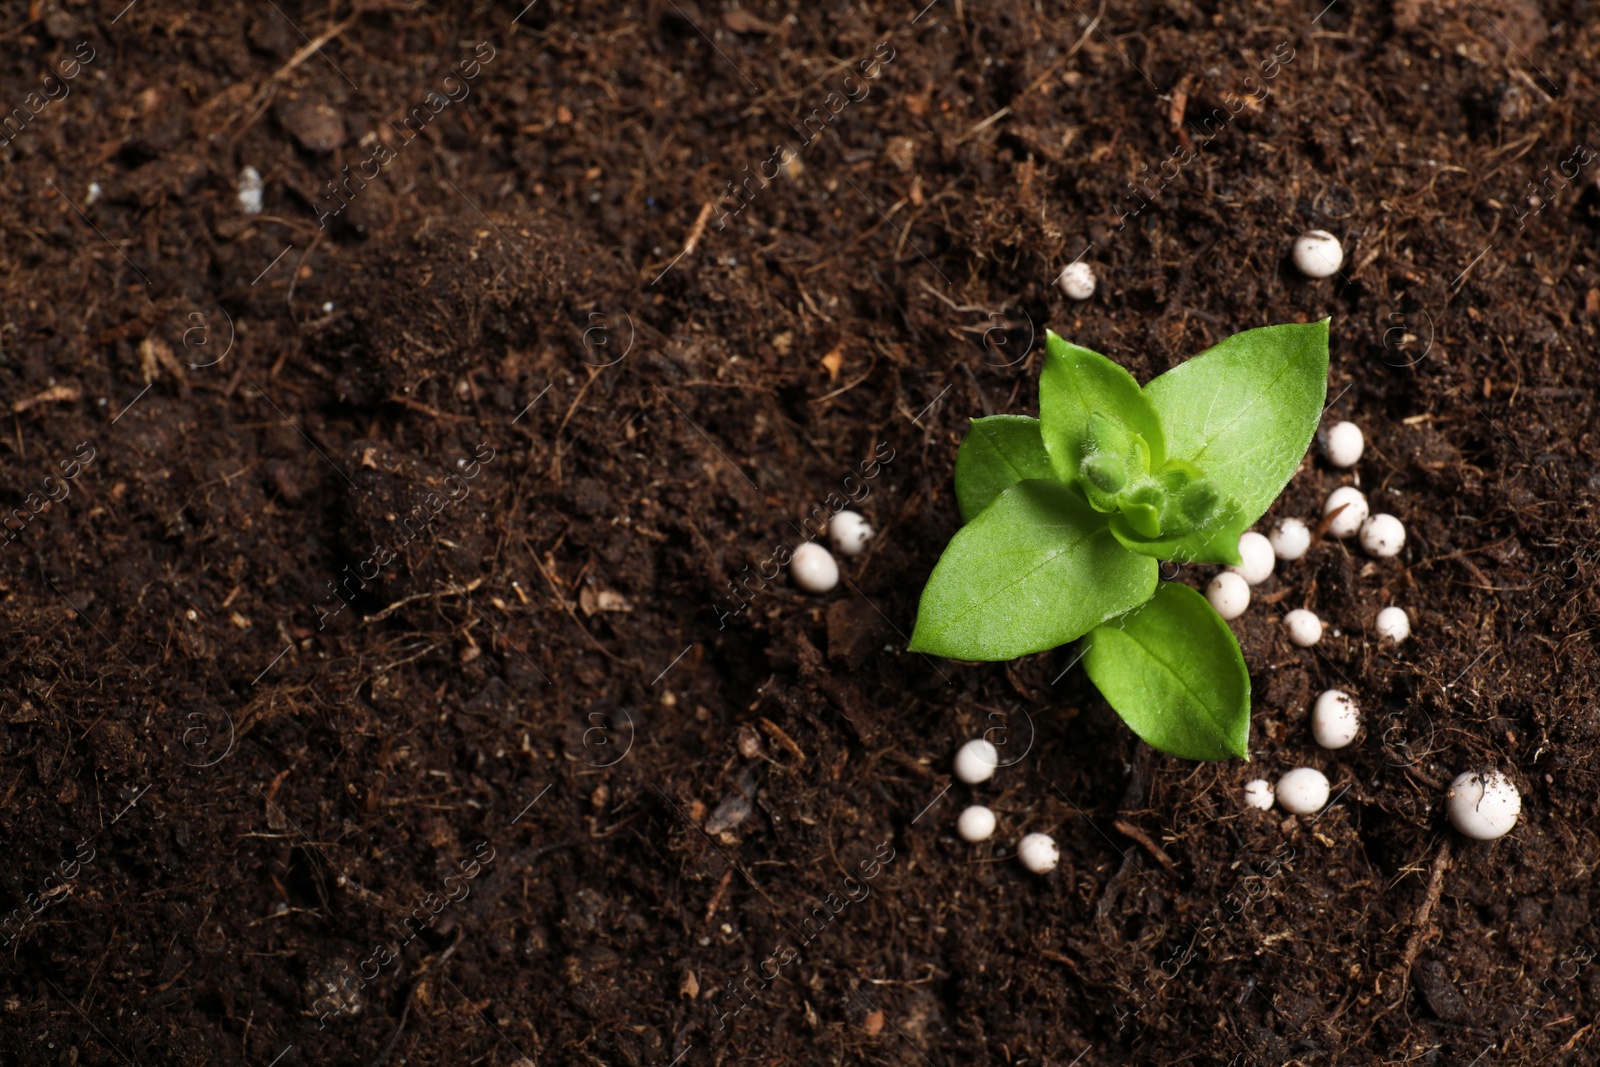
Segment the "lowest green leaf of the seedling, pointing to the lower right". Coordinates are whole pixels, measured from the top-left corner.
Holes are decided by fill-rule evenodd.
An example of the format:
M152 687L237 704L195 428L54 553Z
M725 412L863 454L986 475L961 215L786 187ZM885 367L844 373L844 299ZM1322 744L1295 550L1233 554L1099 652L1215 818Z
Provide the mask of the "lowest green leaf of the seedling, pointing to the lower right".
M1205 597L1162 582L1083 645L1090 680L1152 747L1184 760L1250 758L1250 672Z

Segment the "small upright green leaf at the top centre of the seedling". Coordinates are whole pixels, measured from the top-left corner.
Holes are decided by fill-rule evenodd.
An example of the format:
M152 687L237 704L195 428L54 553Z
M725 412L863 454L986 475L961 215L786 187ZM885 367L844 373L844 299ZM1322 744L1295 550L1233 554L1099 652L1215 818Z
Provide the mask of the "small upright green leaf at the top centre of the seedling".
M1093 426L1096 432L1091 434L1096 416L1099 426ZM1125 440L1136 434L1149 453L1146 466L1130 469L1128 477L1166 461L1162 421L1133 374L1050 330L1045 331L1045 370L1038 376L1038 421L1050 464L1066 483L1077 478L1078 464L1090 451L1118 453L1134 467L1138 458L1128 454L1117 437Z

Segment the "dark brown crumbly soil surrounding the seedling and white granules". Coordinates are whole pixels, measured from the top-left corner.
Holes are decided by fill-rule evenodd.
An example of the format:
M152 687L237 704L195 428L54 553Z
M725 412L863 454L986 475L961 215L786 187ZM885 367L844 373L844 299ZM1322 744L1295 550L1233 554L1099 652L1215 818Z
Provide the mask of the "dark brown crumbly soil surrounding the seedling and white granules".
M0 14L0 1061L1595 1062L1594 3L520 6ZM1253 763L902 651L1046 325L1323 315L1410 541L1258 590Z

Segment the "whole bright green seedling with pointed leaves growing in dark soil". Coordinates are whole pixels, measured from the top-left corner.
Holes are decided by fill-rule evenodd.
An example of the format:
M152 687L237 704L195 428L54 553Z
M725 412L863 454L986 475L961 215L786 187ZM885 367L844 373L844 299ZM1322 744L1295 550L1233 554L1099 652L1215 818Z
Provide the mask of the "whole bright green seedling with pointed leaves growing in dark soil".
M1299 467L1328 395L1328 320L1234 334L1142 389L1046 331L1038 418L973 419L965 526L910 649L1003 661L1083 638L1083 669L1150 745L1250 758L1250 672L1227 622L1158 560L1230 563Z

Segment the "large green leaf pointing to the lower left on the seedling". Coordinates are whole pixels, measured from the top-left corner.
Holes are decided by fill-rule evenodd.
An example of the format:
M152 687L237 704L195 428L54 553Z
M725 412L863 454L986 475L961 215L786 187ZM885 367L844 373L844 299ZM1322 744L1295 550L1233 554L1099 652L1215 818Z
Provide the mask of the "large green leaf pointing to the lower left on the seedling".
M1056 648L1147 600L1155 571L1067 486L1018 482L944 549L910 651L994 661Z

